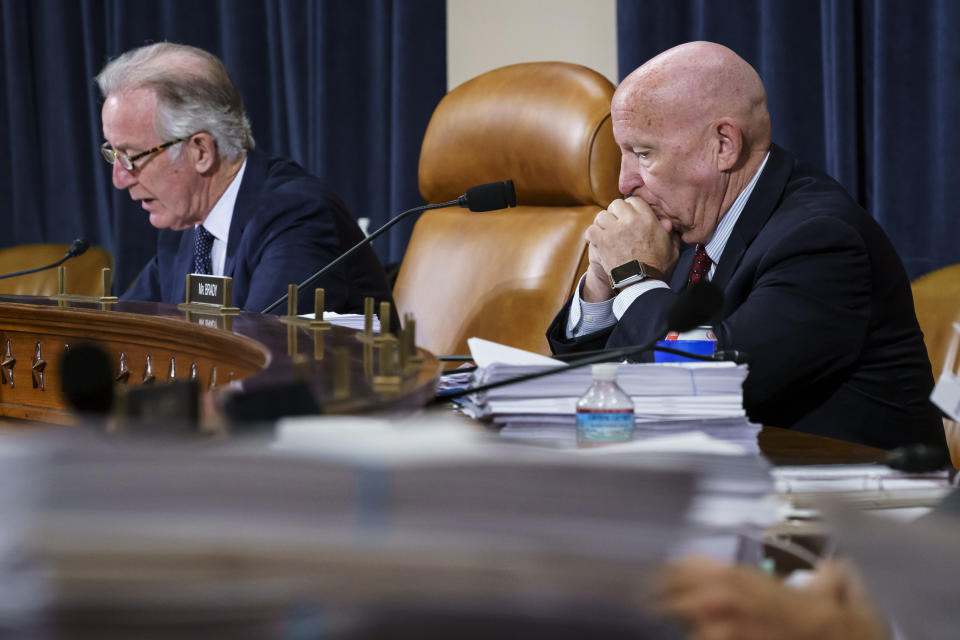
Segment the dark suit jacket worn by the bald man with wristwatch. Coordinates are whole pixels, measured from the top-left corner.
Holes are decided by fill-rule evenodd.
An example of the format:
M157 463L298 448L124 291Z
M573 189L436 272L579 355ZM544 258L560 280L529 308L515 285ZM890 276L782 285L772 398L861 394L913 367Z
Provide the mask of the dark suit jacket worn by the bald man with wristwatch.
M606 331L568 340L568 303L547 333L554 351L655 340L692 260L688 247L671 288L643 294ZM752 421L888 449L946 446L903 264L832 178L772 146L713 282L724 292L717 348L750 356Z

